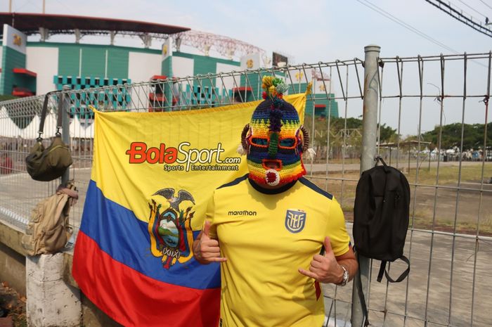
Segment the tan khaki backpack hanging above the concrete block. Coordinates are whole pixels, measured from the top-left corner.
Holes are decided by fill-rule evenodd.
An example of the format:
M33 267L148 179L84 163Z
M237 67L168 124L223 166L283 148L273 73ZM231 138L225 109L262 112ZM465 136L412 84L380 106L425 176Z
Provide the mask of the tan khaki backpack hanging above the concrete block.
M27 255L53 254L65 247L72 236L68 214L78 198L77 188L69 181L66 187L59 186L55 194L36 205L21 240Z

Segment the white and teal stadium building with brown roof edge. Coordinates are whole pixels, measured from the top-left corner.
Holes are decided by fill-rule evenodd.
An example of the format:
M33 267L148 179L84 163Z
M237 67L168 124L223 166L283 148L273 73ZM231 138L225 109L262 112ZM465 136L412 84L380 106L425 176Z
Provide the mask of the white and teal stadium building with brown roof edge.
M0 23L3 25L0 29L1 95L33 96L61 90L65 85L71 89L88 89L160 79L169 81L173 77L256 70L272 65L265 51L256 46L216 34L195 32L188 27L44 13L0 13ZM59 34L72 35L75 41L49 40ZM108 44L81 42L82 37L93 35L108 37ZM118 46L115 37L139 38L143 46ZM160 49L152 49L153 42L162 45ZM198 49L202 54L181 51L184 47ZM211 56L211 53L218 56ZM285 65L286 61L286 57L273 53L273 65ZM119 109L125 109L131 96L147 97L150 103L163 103L164 99L172 98L173 104L184 96L188 97L187 103L196 105L219 103L217 97L222 96L235 101L252 101L252 94L256 98L261 94L261 82L258 74L248 76L248 82L242 77L240 81L204 79L200 85L191 82L172 86L181 88L179 92L174 92L168 82L162 86L157 84L146 94L128 94L122 87L116 91L113 88L112 94L95 96L99 103ZM299 70L290 93L304 92L305 80L304 72ZM326 116L330 108L331 115L338 117L337 102L328 103L322 99L326 98L324 88L328 83L318 82L313 89L314 97L319 100L316 105L311 101L306 103L307 114L314 109L316 115ZM219 89L223 84L224 89Z

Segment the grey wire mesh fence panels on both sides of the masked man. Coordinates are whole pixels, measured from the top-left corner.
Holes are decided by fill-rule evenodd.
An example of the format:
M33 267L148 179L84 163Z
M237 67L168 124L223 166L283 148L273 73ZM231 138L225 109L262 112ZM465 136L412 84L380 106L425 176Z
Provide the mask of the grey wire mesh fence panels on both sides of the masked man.
M488 129L491 53L378 58L377 152L406 174L411 188L402 283L377 283L371 264L368 306L373 326L492 326L492 151ZM363 60L335 60L284 68L223 72L50 96L44 142L56 130L63 93L70 115L70 148L80 200L80 224L93 158L93 113L98 110L199 110L261 99L261 77L285 79L289 93L306 90L304 125L316 157L304 160L315 184L335 195L353 219L360 176ZM59 181L33 181L25 156L37 137L43 96L0 103L0 219L24 229L30 210ZM356 117L356 118L354 118ZM239 139L239 136L238 136ZM349 230L351 224L349 223ZM72 242L75 238L72 239ZM391 264L390 274L403 270ZM325 326L351 326L351 287L325 286Z

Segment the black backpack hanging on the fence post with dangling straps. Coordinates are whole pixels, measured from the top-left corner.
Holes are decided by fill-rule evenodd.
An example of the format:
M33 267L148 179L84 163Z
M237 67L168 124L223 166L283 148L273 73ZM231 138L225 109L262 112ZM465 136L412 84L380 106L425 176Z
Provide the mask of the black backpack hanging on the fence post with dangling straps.
M379 161L382 162L382 166L377 165ZM410 186L405 175L399 169L386 165L386 162L377 156L375 167L363 172L357 184L353 234L354 248L358 255L381 260L380 271L377 274L378 282L381 282L384 274L389 282L399 283L410 272L410 261L403 255L409 207ZM403 260L408 267L394 280L389 276L386 264L396 259ZM368 309L362 292L361 278L358 278L358 283L365 326L368 326Z

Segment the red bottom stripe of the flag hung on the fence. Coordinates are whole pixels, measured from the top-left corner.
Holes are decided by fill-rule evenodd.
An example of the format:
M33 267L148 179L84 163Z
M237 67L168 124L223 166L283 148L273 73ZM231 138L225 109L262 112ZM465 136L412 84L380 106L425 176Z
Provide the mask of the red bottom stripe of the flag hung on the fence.
M117 262L82 231L72 275L97 307L124 326L210 327L219 323L220 288L163 283Z

